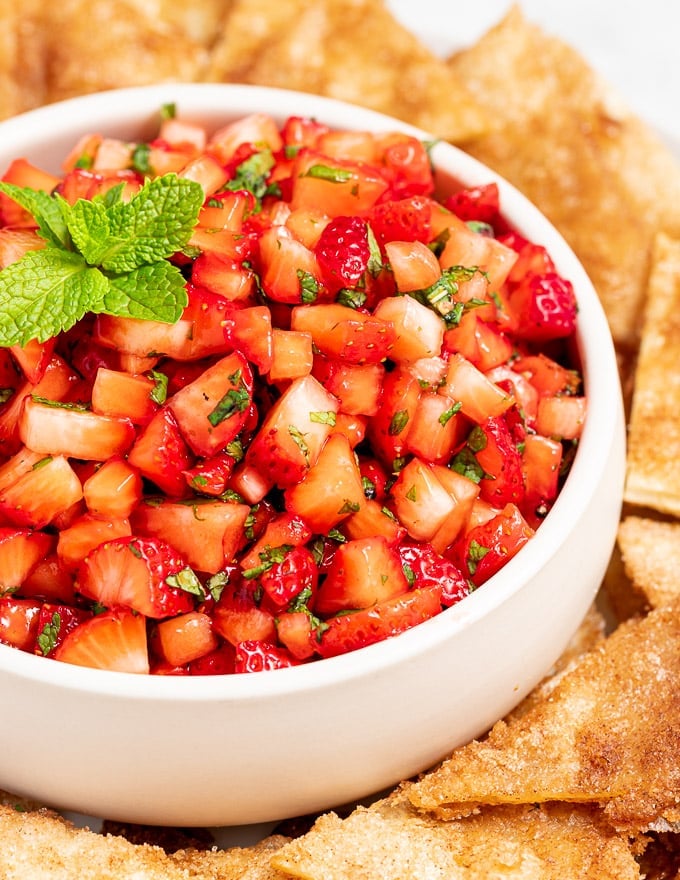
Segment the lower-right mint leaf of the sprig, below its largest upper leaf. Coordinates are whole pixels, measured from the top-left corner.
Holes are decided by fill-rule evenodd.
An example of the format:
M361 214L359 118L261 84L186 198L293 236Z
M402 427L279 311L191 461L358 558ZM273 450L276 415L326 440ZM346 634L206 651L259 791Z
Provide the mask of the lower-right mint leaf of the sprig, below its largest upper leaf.
M108 281L109 290L102 307L92 311L174 324L188 302L184 276L176 266L165 261L109 276Z

